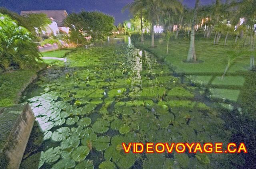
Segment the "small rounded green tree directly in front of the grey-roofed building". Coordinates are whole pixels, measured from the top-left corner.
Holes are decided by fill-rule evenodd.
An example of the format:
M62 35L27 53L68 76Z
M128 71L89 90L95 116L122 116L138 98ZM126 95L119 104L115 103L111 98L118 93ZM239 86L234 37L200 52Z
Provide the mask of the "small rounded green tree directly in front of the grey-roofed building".
M48 24L51 24L51 20L44 13L39 14L27 14L26 16L27 23L32 28L44 29Z

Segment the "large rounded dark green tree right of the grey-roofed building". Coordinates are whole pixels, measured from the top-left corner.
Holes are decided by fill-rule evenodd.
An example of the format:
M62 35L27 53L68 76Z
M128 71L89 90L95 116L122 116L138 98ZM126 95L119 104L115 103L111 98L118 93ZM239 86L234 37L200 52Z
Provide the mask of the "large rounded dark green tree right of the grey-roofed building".
M84 35L90 35L92 38L101 39L112 33L114 27L114 18L102 12L82 11L79 14L72 13L65 20L64 24L71 31L79 31Z

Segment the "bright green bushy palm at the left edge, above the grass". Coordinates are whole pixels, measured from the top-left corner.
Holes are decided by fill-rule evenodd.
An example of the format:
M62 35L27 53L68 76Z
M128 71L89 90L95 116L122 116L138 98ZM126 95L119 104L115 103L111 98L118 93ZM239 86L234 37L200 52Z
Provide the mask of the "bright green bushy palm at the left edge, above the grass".
M0 14L0 67L4 71L33 68L40 60L37 44L31 33L7 15Z

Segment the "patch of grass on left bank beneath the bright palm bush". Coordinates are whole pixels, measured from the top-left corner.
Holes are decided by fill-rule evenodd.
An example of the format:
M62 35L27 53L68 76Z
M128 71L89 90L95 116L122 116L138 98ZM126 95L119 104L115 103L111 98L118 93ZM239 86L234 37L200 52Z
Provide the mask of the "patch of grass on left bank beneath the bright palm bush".
M40 63L38 70L17 70L6 73L0 73L0 107L12 106L20 98L21 92L36 77L37 71L45 67Z

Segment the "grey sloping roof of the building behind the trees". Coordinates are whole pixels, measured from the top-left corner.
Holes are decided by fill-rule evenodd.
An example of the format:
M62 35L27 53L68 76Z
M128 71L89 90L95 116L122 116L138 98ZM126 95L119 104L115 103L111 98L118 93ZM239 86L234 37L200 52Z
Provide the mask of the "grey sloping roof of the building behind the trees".
M58 26L62 26L62 21L68 16L66 10L30 10L21 11L20 15L39 13L46 14L50 19L53 18L53 21L56 22Z

